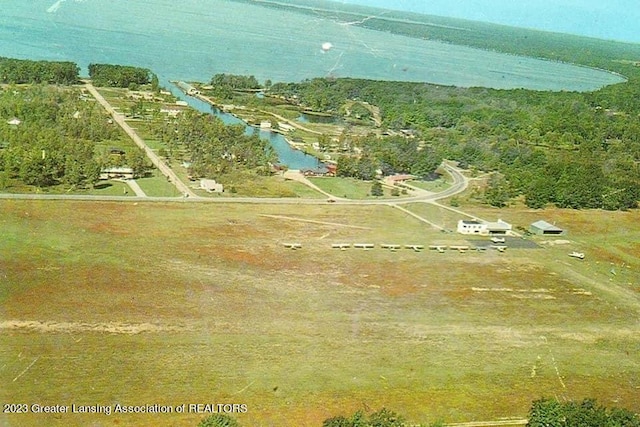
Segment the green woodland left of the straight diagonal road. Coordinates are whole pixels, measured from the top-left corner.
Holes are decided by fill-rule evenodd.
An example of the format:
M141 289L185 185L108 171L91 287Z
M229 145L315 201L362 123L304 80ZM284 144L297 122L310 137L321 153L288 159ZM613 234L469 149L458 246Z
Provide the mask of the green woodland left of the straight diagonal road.
M86 187L109 157L96 143L118 141L119 128L79 89L32 85L0 91L0 187L13 181L36 187ZM135 158L135 153L127 153Z

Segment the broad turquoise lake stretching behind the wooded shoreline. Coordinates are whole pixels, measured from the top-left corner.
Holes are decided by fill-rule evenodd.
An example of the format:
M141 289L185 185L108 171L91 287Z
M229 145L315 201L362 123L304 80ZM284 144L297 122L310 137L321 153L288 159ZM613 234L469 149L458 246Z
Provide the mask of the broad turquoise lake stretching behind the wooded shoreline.
M586 67L228 0L5 0L0 55L70 60L83 74L89 63L136 65L162 80L208 81L216 73L274 82L348 76L578 91L623 81Z

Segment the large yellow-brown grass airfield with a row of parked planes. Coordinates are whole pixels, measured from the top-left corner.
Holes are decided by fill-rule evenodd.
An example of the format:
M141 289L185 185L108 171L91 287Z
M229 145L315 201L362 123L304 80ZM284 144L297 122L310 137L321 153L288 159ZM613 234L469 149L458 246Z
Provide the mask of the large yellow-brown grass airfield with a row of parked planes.
M382 407L415 423L522 418L542 396L640 410L638 212L550 211L583 261L547 244L331 248L464 242L387 206L4 200L0 212L3 403L246 404L246 426ZM0 414L0 425L204 416Z

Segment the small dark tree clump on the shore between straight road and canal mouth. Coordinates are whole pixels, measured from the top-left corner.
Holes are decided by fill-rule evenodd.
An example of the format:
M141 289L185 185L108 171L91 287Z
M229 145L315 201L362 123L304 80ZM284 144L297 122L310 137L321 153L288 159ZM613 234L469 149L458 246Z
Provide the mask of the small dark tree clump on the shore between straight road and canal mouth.
M89 77L95 86L120 87L135 90L152 83L158 89L158 77L147 68L128 65L89 64Z

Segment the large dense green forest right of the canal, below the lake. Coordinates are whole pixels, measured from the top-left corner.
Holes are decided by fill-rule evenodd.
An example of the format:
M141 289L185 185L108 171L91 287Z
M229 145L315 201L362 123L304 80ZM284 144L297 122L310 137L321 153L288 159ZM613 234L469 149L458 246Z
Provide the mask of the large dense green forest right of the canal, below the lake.
M497 172L487 198L495 206L524 196L534 208L628 209L640 200L633 71L628 82L590 93L317 78L276 83L270 94L336 115L349 100L375 105L386 129L410 130L436 158ZM383 151L401 155L402 142L384 141Z

